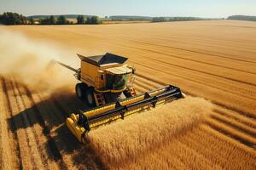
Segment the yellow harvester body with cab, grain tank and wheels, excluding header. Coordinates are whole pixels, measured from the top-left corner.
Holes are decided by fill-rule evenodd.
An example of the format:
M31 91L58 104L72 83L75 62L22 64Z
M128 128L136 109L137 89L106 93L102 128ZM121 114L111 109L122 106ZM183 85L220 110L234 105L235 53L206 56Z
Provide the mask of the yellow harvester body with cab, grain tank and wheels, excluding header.
M127 58L108 53L91 57L78 55L81 59L81 68L76 74L79 99L94 107L136 95L135 70L125 64Z

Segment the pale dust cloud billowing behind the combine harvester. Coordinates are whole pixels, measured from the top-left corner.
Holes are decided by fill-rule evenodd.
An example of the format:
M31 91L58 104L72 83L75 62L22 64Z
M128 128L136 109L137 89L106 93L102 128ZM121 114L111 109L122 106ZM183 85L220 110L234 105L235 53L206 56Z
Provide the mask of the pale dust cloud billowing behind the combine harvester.
M54 65L52 59L79 66L79 58L71 49L54 42L37 41L25 35L0 29L0 75L44 91L73 86L73 72Z

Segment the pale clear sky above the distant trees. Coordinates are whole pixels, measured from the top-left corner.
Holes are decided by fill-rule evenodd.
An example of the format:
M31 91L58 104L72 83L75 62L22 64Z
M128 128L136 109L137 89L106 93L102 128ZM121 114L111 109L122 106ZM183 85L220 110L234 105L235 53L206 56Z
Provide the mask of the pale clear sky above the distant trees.
M197 16L256 15L256 0L0 0L0 14Z

